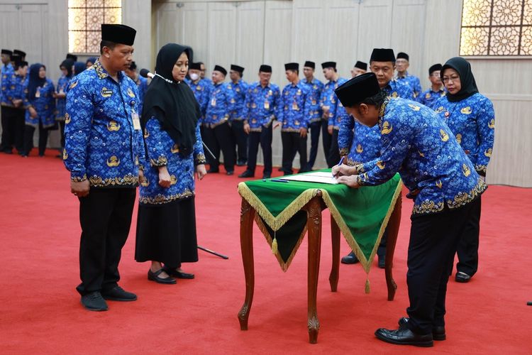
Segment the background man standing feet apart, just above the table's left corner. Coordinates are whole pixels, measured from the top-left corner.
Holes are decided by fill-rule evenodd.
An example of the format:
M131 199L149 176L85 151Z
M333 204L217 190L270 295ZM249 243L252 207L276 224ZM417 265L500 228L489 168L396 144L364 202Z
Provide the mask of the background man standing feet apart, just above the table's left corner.
M272 84L272 67L261 65L259 81L248 87L244 102L244 131L249 135L248 168L238 178L253 178L257 167L257 152L262 148L264 160L263 179L272 176L273 121L282 118L282 99L279 87Z

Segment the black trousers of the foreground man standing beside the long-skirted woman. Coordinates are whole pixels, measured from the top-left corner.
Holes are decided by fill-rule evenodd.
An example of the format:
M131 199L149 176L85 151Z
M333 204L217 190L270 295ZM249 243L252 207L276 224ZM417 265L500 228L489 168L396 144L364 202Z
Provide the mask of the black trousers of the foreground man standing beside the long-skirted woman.
M135 188L92 188L79 198L79 277L81 295L108 291L118 285L122 247L128 239Z

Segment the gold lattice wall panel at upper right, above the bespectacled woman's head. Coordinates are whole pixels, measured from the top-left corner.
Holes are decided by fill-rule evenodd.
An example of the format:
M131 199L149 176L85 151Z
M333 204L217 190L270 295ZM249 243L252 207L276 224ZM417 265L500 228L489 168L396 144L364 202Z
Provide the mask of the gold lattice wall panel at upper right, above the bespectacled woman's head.
M532 55L532 0L464 0L460 55Z

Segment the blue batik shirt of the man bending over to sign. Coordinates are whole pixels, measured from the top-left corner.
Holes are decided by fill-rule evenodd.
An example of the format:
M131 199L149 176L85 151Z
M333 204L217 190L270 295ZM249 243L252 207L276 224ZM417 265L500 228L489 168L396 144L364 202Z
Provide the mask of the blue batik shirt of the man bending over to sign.
M399 172L414 199L413 214L441 212L475 200L484 180L475 172L453 132L432 109L389 99L379 113L381 155L357 165L360 185L380 185Z

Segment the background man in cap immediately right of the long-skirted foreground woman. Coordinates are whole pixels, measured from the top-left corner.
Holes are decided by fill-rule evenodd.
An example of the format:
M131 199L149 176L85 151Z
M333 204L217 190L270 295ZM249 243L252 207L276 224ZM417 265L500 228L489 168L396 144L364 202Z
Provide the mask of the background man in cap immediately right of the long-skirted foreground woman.
M204 121L204 139L214 157L208 155L209 170L207 173L218 173L220 151L223 152L223 166L227 175L235 171L235 141L229 126L229 113L234 110L233 91L224 83L227 70L215 65L212 72L213 87L207 103Z

